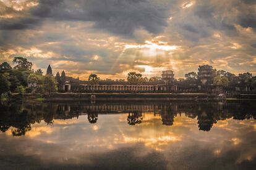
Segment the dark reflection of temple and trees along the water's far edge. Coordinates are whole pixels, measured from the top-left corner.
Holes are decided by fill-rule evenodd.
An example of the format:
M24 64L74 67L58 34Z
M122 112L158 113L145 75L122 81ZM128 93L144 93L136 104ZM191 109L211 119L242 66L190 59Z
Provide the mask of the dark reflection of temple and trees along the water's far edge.
M89 123L97 123L99 114L126 113L127 123L143 123L142 113L154 113L161 116L162 124L173 125L177 114L184 113L188 118L197 118L198 129L210 131L219 120L256 119L256 105L247 103L40 103L24 105L0 105L0 131L10 127L14 136L22 136L31 130L31 125L45 121L54 124L54 119L79 118L87 115Z

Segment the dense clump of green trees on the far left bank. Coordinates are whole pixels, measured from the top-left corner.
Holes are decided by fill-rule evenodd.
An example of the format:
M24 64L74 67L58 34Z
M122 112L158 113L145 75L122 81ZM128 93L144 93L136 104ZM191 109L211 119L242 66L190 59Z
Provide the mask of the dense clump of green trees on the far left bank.
M7 62L0 65L0 94L6 92L23 94L32 91L43 94L56 91L55 78L49 75L44 76L41 69L33 70L32 62L23 57L14 57L12 63L13 68ZM33 88L35 84L36 87Z

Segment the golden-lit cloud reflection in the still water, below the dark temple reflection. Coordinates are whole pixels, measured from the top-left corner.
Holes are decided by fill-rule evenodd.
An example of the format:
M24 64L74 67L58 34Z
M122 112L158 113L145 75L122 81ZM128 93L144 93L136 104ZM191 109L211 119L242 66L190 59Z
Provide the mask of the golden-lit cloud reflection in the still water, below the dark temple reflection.
M127 121L127 114L99 115L96 124L88 123L86 115L79 119L54 119L52 125L33 124L32 130L19 140L14 140L11 131L7 131L10 135L1 134L0 141L8 140L10 146L15 145L15 155L33 155L45 163L54 160L54 163L90 164L95 153L109 155L112 151L122 152L124 147L138 146L140 156L160 152L171 164L185 161L187 154L194 160L205 155L208 163L226 158L229 152L239 153L233 155L237 163L254 161L255 137L251 133L255 132L255 123L250 119L218 121L211 131L202 132L198 131L197 119L188 118L184 113L174 118L173 126L163 126L158 114L143 113L142 116L142 123L135 126L119 121Z

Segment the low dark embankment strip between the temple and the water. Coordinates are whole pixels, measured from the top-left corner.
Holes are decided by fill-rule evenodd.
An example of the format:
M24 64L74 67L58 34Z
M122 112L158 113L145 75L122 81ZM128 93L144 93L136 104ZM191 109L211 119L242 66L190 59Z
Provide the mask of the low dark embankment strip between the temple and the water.
M93 99L92 99L93 95ZM120 93L56 93L56 94L20 94L11 95L11 102L130 102L130 101L223 101L223 100L256 100L256 94L120 94Z

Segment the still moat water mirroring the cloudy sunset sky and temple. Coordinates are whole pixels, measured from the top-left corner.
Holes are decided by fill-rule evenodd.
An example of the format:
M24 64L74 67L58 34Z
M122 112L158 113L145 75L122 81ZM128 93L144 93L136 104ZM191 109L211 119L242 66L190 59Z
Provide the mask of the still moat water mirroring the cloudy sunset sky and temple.
M0 169L255 169L255 102L0 105Z

